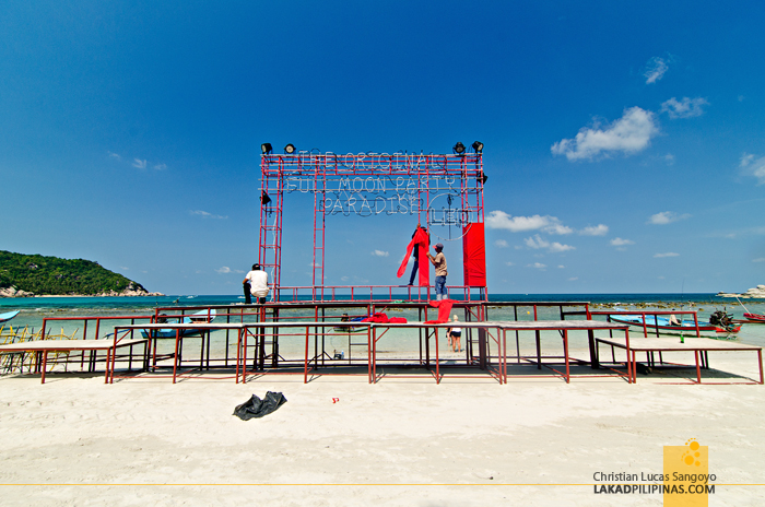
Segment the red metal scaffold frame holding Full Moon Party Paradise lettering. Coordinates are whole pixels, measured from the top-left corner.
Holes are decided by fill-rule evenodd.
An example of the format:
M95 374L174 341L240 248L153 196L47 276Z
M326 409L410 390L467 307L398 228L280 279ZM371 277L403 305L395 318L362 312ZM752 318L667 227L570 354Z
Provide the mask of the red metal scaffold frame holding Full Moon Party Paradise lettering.
M379 154L340 155L331 152L299 152L260 157L261 197L258 261L271 274L274 299L280 300L282 213L284 194L293 191L314 196L314 255L311 300L333 298L334 288L325 285L325 245L327 214L416 214L420 224L483 224L483 154ZM459 209L451 210L459 196ZM446 197L448 210L438 210L434 201ZM481 236L483 232L481 231ZM482 238L483 239L483 238ZM485 272L485 266L483 267ZM467 288L468 298L470 288ZM350 286L342 288L351 288ZM485 281L479 288L481 299L487 293ZM372 298L372 296L370 296Z

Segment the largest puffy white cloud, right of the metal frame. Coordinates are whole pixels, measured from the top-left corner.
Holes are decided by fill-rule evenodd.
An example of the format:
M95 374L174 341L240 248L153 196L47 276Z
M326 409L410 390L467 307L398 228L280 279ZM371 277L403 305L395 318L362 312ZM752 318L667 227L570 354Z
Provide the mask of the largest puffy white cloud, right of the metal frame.
M625 109L620 119L604 129L598 127L581 128L576 138L563 139L553 144L550 151L553 155L566 155L569 161L592 160L597 155L608 156L615 152L631 155L645 150L651 138L659 133L654 113L637 106Z

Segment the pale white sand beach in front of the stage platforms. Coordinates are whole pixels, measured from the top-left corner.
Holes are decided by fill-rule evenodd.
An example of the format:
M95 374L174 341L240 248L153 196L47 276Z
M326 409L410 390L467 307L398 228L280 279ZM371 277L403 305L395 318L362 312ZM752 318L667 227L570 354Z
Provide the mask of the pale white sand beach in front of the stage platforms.
M754 354L716 357L756 373ZM592 475L661 473L662 446L688 438L709 446L717 484L765 483L763 386L662 378L5 376L0 504L662 505L656 494L595 495ZM287 403L261 420L232 415L268 390ZM765 486L718 485L709 505L764 497Z

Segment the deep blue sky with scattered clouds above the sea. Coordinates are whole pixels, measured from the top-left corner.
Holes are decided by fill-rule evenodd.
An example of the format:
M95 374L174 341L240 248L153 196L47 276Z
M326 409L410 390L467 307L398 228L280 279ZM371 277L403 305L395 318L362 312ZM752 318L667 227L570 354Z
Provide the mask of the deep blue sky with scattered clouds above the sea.
M763 14L7 0L0 248L96 260L150 291L238 294L258 254L261 142L480 140L490 292L745 291L765 283ZM289 196L285 285L310 282L310 219ZM400 283L415 223L330 217L327 283ZM445 254L460 284L459 241Z

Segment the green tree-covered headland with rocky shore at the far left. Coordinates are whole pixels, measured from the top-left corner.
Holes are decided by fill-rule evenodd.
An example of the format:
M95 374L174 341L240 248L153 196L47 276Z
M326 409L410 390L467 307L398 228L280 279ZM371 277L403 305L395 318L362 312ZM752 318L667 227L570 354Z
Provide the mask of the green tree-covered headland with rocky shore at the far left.
M84 259L0 250L0 297L164 296Z

